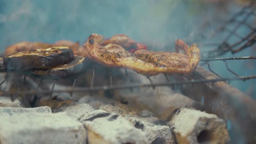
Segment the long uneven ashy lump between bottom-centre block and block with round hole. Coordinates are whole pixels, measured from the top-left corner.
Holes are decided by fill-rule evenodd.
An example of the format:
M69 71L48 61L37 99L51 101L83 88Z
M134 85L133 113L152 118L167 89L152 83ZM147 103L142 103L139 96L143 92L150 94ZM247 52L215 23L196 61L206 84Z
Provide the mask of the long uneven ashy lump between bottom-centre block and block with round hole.
M162 125L158 118L153 116L139 116L138 109L129 105L115 103L113 105L102 105L101 109L112 113L118 113L131 124L144 132L149 143L161 140L162 143L174 143L174 136L167 125Z

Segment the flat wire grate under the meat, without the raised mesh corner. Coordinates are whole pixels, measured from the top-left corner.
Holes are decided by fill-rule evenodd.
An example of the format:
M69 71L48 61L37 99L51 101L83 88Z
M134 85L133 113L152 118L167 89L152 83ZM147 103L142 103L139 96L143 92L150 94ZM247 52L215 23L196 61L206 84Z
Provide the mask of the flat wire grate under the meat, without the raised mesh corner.
M77 79L74 79L73 83L71 86L67 86L66 89L63 90L55 90L55 83L57 80L53 80L53 86L51 87L51 91L39 91L38 88L40 87L40 85L42 84L42 81L44 79L40 79L40 82L38 83L36 89L31 90L31 91L19 91L20 87L22 86L23 83L25 83L26 81L26 75L24 75L24 77L21 80L20 85L17 87L18 91L2 91L3 95L13 95L13 94L19 94L19 93L26 93L26 94L51 94L54 92L93 92L93 91L107 91L107 90L114 90L114 89L129 89L129 88L141 88L141 87L159 87L159 86L183 86L183 85L193 85L193 83L203 83L203 82L218 82L218 81L233 81L233 80L242 80L242 81L246 81L249 79L256 79L256 74L255 75L248 75L248 76L240 76L238 75L235 71L231 70L229 68L229 64L227 61L235 61L235 60L241 60L241 59L253 59L256 60L256 57L230 57L230 58L208 58L208 59L201 59L201 63L206 63L208 70L210 70L213 74L215 74L216 76L218 76L218 79L211 79L211 80L191 80L191 81L187 81L184 79L184 81L170 81L170 79L168 78L167 75L165 75L167 82L164 83L153 83L152 80L150 79L150 77L148 77L150 83L147 84L141 84L141 83L131 83L130 85L113 85L113 77L112 77L112 73L109 71L109 85L106 86L94 86L94 81L95 81L95 67L97 66L92 66L92 77L91 77L91 81L90 81L90 86L89 87L75 87L75 83L77 81ZM228 70L233 76L232 77L221 77L219 76L216 71L214 71L211 68L211 62L212 61L223 61L223 67ZM0 83L0 86L7 81L7 77L8 77L8 72L6 72L5 77L3 79L3 81ZM129 73L125 73L126 77L129 77Z

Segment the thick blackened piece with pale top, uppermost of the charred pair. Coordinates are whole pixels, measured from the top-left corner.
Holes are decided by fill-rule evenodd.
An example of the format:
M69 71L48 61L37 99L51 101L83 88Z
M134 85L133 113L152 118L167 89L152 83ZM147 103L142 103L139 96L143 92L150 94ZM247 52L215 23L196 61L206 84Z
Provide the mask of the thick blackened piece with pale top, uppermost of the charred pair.
M56 46L48 49L18 52L3 58L8 70L51 69L74 59L69 47Z

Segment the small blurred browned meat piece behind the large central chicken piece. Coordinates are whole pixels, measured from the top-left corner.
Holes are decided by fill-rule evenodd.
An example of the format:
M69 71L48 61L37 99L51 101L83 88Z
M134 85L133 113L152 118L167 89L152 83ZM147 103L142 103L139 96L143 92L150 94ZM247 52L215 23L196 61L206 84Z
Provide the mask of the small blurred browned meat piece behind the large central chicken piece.
M102 36L100 36L102 37ZM96 38L97 39L97 38ZM136 41L129 38L127 35L124 34L117 34L111 37L110 39L106 39L102 41L102 43L99 42L99 40L96 41L97 43L105 46L108 44L117 44L122 46L125 50L134 52L139 49L147 49L146 45L136 43Z

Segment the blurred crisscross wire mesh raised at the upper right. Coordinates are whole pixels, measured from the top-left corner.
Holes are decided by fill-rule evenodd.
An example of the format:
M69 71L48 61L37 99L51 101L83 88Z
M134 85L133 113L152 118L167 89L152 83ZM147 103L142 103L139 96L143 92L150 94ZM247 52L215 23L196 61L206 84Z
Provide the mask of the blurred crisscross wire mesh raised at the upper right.
M207 56L219 57L226 52L237 53L243 49L252 47L256 41L255 23L255 3L250 3L234 14L210 35L210 39L213 39L227 33L226 37L220 43L203 44L215 47L207 52ZM245 29L248 32L247 34L243 34L243 30Z

